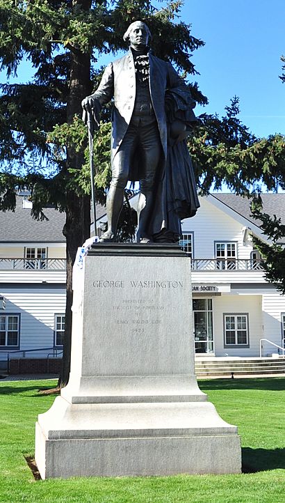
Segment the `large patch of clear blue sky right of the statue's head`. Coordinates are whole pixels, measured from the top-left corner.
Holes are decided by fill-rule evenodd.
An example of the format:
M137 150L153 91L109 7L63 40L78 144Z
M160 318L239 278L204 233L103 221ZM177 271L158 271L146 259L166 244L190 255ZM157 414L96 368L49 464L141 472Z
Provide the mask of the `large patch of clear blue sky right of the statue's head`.
M193 53L209 105L197 114L223 114L240 98L241 121L259 137L285 134L285 0L186 0L181 20L206 45Z

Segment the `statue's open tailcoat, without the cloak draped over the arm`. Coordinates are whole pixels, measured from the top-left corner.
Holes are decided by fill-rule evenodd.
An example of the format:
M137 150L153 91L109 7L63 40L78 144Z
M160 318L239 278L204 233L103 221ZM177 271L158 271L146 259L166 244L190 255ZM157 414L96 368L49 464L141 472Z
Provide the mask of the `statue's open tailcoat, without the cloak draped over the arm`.
M168 148L165 91L185 92L186 89L186 84L172 65L149 52L149 91L158 123L164 159L166 159ZM136 72L131 49L128 54L106 67L99 87L92 94L92 98L96 98L100 105L106 105L114 98L111 136L111 159L113 159L127 132L136 100ZM194 114L193 121L195 121Z

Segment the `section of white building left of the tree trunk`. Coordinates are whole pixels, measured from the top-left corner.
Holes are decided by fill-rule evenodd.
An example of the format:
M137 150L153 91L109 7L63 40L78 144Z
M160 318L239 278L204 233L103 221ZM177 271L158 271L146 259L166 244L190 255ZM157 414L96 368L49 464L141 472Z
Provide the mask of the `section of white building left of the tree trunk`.
M0 359L54 353L62 348L65 322L65 215L52 208L49 219L31 217L26 195L15 212L0 212ZM5 366L5 365L3 365Z

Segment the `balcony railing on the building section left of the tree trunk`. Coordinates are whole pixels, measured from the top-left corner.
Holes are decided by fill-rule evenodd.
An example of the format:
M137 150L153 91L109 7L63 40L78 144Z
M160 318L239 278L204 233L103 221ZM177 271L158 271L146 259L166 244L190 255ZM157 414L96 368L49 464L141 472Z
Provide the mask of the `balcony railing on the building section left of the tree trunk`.
M0 258L0 270L58 270L66 269L65 258Z

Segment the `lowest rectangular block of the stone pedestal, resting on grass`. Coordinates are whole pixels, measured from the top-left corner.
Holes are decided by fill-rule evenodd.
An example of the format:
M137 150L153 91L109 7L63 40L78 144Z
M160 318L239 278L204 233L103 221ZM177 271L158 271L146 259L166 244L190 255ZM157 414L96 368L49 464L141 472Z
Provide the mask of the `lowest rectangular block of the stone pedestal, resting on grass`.
M37 424L35 440L42 479L241 472L238 435L47 441Z

